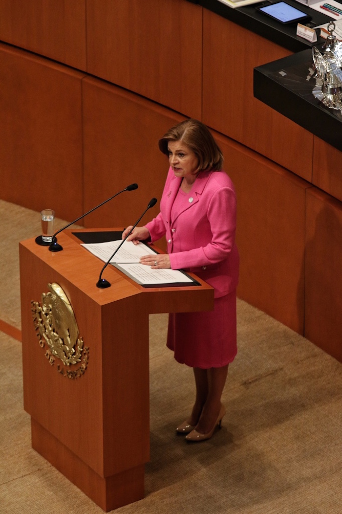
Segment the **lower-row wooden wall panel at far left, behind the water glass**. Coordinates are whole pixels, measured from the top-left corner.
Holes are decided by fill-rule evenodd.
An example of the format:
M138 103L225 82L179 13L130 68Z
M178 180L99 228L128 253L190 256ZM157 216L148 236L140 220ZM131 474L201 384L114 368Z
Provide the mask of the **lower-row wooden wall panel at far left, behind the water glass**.
M82 213L82 75L0 44L1 198Z

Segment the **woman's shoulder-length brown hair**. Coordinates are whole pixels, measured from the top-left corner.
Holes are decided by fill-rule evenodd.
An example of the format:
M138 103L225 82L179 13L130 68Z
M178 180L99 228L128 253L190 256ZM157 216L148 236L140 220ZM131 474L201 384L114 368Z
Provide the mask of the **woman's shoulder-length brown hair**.
M201 121L188 119L170 128L159 139L159 149L168 156L169 141L181 141L198 158L197 171L222 170L223 155L208 127Z

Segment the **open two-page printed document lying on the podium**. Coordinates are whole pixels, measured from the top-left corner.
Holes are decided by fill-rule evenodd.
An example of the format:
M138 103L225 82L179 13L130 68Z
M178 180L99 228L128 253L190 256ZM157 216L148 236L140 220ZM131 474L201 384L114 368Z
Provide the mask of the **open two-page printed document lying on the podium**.
M82 244L88 251L104 262L108 262L110 256L121 245L122 241L110 241L109 243ZM142 255L156 254L157 252L140 243L135 245L131 241L125 241L120 249L110 260L110 264L123 271L128 277L144 286L165 285L199 285L186 273L175 269L151 269L149 266L139 264Z

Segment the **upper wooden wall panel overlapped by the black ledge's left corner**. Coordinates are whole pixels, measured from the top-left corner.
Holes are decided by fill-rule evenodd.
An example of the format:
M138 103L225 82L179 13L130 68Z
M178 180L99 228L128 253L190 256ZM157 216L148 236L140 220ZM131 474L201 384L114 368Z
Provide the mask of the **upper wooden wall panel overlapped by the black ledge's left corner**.
M313 135L253 96L253 68L290 54L204 10L202 121L310 181Z

